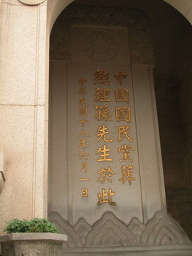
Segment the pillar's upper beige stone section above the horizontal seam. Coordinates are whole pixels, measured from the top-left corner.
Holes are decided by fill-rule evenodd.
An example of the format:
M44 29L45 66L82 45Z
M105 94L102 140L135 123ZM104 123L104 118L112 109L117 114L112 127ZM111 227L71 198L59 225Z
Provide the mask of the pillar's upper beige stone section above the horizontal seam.
M30 6L9 6L8 8L11 21L7 27L10 33L6 35L6 65L2 92L4 103L11 105L43 104L45 97L42 86L42 82L45 82L45 68L43 68L45 67L45 47L43 46L46 35L46 7L41 6L41 16L38 9ZM40 29L39 33L37 33L37 28ZM36 33L38 37L36 37ZM38 49L36 49L37 46ZM38 60L40 61L36 66Z

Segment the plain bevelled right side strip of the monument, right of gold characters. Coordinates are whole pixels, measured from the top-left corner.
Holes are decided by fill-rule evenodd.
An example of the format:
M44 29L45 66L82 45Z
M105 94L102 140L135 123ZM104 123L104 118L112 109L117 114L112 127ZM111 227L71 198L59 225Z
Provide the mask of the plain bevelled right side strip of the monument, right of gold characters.
M146 206L144 207L144 222L146 223L156 209L166 210L164 176L151 68L134 67L132 75L137 113L142 200Z

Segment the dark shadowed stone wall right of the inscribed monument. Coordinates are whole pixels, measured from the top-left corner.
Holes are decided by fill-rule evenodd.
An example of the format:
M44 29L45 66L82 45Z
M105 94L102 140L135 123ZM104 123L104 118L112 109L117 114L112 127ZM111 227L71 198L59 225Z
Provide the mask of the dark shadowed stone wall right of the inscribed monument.
M192 237L192 29L180 14L171 9L165 11L161 18L151 14L151 20L154 29L154 80L167 208Z

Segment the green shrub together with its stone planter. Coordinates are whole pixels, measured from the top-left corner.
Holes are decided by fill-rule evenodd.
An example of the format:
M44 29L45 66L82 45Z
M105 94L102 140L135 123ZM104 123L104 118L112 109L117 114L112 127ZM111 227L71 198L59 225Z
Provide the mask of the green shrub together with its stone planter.
M60 256L66 235L47 219L11 220L0 236L1 256Z

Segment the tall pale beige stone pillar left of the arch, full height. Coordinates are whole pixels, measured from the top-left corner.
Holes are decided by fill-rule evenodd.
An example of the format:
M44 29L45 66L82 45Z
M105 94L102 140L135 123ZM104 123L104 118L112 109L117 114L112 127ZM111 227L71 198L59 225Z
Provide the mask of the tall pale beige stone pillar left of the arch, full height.
M1 2L0 151L6 183L0 230L6 220L47 215L46 2L41 2Z

